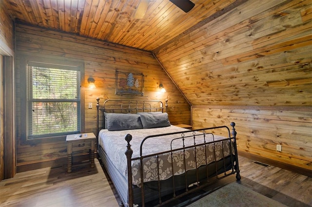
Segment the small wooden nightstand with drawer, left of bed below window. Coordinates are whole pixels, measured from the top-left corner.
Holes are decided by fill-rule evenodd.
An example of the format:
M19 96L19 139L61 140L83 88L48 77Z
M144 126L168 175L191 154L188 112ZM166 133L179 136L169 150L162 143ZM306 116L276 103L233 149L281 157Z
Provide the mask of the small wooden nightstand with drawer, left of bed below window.
M89 151L89 161L91 168L94 168L94 148L96 136L93 132L69 134L66 136L67 142L67 172L72 171L73 156L78 153Z

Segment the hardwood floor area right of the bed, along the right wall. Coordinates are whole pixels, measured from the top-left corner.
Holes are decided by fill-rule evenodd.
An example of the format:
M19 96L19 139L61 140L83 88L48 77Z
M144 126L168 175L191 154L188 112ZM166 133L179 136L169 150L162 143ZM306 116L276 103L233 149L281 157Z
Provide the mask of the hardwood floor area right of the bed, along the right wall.
M239 157L241 184L289 207L312 206L312 177Z

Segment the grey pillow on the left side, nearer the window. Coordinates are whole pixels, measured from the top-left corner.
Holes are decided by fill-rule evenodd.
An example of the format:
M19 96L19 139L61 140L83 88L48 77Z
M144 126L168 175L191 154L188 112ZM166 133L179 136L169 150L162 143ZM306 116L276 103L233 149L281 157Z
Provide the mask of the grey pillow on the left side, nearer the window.
M134 113L104 113L108 131L143 129L140 115Z

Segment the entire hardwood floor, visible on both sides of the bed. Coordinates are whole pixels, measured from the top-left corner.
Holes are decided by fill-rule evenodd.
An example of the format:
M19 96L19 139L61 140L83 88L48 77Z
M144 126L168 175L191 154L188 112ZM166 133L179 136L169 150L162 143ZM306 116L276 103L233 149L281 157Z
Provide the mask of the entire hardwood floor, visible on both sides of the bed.
M17 173L0 182L1 207L118 207L120 199L98 160L66 168L44 168ZM289 207L312 206L312 177L273 166L255 164L239 157L240 184ZM215 183L211 189L235 182L235 176ZM243 195L242 195L243 196Z

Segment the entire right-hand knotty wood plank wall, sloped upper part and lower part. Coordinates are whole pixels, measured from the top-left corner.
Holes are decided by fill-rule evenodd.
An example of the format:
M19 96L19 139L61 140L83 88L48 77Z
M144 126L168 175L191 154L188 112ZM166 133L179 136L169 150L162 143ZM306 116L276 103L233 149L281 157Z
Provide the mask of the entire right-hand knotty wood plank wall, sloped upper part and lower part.
M193 126L234 121L242 154L312 176L312 1L248 0L191 31L154 53Z

